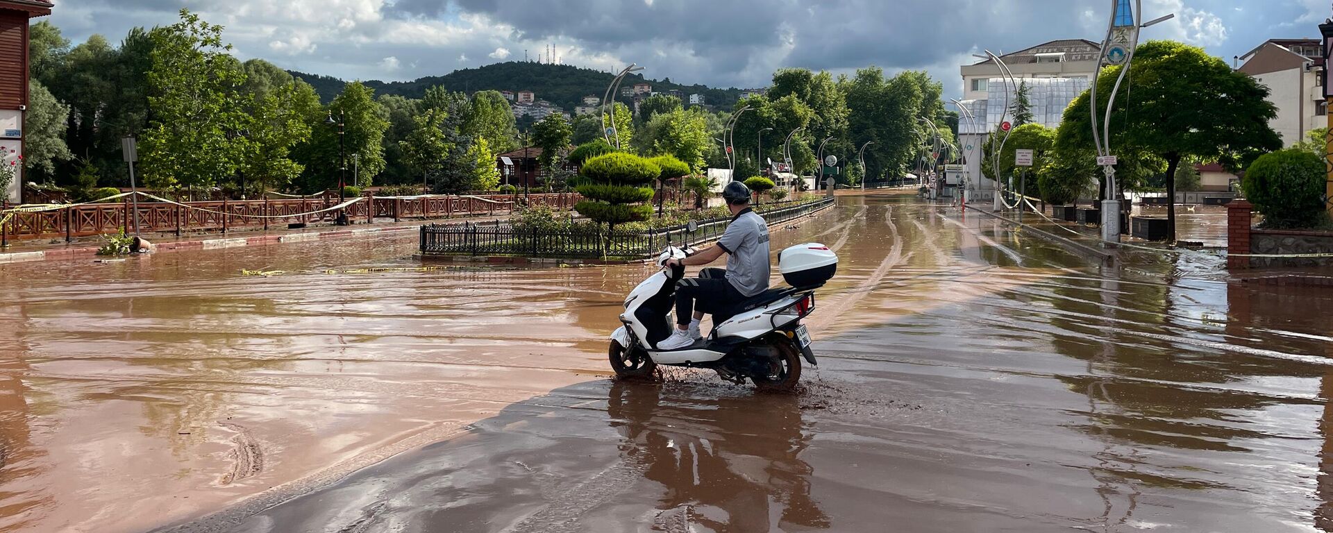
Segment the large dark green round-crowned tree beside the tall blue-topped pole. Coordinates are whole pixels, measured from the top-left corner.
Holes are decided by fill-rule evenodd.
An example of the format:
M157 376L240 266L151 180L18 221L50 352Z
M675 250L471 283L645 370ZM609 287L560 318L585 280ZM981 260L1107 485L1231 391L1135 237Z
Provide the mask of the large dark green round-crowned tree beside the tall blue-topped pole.
M1149 41L1134 52L1129 73L1133 91L1116 99L1110 145L1116 152L1152 153L1174 176L1185 159L1246 167L1260 153L1282 147L1269 120L1277 108L1268 89L1253 77L1232 71L1202 48L1173 41ZM1098 108L1120 76L1108 68L1097 80ZM1090 148L1090 97L1085 92L1065 109L1060 135ZM1117 173L1118 176L1118 173ZM1169 239L1176 240L1176 181L1166 180Z

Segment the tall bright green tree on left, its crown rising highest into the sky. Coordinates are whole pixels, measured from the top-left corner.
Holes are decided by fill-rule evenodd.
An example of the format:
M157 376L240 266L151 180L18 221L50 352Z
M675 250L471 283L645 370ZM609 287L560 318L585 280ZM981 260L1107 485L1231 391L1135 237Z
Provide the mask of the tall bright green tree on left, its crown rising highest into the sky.
M223 44L223 27L188 9L180 23L153 32L148 97L153 120L140 141L144 184L205 188L236 169L228 137L244 121L236 87L244 73Z

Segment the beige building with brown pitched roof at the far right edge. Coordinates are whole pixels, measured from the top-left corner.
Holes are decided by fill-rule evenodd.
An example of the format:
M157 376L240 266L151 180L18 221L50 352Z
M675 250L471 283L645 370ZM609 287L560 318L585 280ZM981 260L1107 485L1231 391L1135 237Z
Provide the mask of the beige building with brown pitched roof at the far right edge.
M1269 125L1288 147L1310 129L1328 125L1320 87L1322 56L1317 39L1273 39L1238 57L1238 71L1268 87L1268 100L1277 107L1277 119Z

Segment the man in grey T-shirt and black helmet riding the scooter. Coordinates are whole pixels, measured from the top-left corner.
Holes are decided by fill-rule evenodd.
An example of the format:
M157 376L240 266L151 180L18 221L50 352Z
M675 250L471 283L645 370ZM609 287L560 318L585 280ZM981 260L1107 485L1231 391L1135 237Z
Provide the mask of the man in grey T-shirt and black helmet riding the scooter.
M701 266L725 253L726 269L706 268L698 277L676 284L676 330L657 344L659 349L674 350L694 344L702 338L698 322L704 313L717 313L768 290L768 223L750 209L750 189L745 184L726 184L722 199L732 212L732 223L717 244L682 260L669 260L666 266Z

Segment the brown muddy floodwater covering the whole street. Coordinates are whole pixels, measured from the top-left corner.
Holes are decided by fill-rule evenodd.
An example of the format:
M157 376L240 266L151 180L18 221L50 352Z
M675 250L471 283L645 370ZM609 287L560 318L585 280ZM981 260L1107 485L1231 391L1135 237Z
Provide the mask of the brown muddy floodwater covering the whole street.
M1333 530L1333 293L901 196L773 240L841 257L794 396L612 381L643 265L3 265L0 530Z

